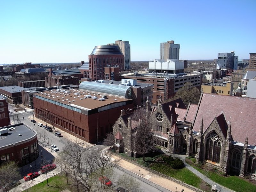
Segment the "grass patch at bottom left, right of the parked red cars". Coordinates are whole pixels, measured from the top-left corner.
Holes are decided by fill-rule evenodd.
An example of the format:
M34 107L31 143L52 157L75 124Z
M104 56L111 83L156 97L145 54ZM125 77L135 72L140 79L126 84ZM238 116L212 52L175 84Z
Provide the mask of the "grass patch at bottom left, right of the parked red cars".
M28 188L28 192L60 192L66 188L68 188L70 191L74 191L74 186L67 185L66 176L61 174L49 178L48 183L49 186L47 186L47 180L42 183L38 183L37 185Z

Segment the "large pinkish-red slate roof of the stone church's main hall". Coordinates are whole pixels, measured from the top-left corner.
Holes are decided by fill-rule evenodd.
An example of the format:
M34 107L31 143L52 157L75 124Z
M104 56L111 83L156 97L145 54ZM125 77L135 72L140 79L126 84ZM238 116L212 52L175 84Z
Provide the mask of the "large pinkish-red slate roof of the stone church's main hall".
M226 122L231 124L234 141L244 143L244 138L248 135L248 144L256 145L256 99L202 93L193 131L200 131L202 117L205 131L215 115L221 114L224 114Z

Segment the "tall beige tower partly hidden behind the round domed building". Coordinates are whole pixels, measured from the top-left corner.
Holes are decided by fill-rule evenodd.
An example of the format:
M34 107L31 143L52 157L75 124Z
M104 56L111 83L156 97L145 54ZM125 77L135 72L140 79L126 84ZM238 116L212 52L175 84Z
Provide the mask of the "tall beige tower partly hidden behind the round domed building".
M118 45L121 52L124 54L124 69L131 68L131 45L129 41L117 40L116 44Z

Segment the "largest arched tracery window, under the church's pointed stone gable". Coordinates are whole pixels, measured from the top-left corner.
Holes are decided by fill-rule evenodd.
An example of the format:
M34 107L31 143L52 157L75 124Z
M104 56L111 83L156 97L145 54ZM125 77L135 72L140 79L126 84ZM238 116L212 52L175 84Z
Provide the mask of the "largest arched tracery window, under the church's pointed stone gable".
M205 159L220 163L221 140L216 132L211 132L206 139Z

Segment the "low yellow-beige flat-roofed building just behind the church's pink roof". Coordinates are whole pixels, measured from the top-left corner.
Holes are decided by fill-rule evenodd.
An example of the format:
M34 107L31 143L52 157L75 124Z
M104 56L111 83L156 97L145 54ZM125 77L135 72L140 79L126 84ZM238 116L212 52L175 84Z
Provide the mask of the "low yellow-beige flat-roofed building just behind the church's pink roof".
M201 91L204 93L215 93L217 95L232 95L233 83L207 83L201 85Z

